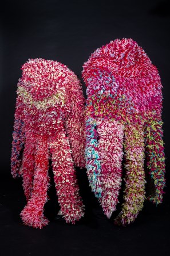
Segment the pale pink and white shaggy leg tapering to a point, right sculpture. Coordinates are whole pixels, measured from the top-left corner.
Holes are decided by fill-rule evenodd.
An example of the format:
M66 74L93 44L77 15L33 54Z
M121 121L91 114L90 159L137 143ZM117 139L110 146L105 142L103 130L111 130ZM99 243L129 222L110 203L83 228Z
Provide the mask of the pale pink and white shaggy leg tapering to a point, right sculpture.
M116 210L118 191L121 185L124 127L117 121L106 120L105 124L103 122L97 124L102 169L102 197L100 201L105 215L110 218L112 212ZM107 132L105 132L105 127Z

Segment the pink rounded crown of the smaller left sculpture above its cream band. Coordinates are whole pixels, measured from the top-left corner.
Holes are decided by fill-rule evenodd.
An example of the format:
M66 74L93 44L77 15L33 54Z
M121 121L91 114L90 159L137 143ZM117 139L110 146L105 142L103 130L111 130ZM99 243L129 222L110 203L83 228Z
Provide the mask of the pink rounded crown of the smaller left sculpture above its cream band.
M25 87L35 101L60 93L78 79L67 66L53 60L29 59L21 69L19 86Z

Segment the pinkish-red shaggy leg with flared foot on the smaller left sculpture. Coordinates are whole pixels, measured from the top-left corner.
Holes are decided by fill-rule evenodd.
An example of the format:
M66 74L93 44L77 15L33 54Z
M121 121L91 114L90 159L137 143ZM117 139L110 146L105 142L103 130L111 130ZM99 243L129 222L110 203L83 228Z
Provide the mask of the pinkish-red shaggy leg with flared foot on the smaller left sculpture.
M44 205L47 201L49 186L49 152L47 139L44 136L37 138L37 151L35 152L35 173L33 190L26 207L21 212L23 223L34 228L42 228L49 223L44 217Z

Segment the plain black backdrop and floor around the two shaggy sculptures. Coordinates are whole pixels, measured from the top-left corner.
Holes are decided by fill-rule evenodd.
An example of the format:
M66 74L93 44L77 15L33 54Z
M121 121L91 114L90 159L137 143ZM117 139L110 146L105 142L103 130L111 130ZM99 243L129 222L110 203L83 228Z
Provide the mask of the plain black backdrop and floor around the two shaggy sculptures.
M168 255L169 241L169 1L5 1L0 4L1 224L2 255ZM44 230L19 226L25 205L21 181L10 176L11 133L21 66L29 58L58 60L81 79L90 54L114 40L131 37L159 70L167 188L163 205L146 203L126 228L96 219L69 226L53 223ZM82 84L84 93L85 85ZM78 170L85 202L92 200L85 170ZM87 196L88 195L88 196ZM88 208L88 207L87 207Z

